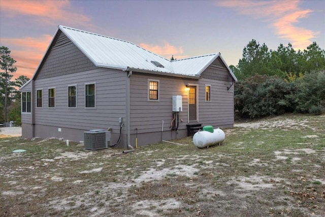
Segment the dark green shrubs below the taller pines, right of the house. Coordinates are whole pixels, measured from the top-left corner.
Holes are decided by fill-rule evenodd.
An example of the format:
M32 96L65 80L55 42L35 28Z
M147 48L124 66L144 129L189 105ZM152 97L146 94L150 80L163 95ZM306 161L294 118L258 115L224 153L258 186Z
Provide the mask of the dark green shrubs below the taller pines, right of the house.
M285 112L321 114L325 108L325 71L292 82L276 76L254 75L235 83L235 114L244 118Z

